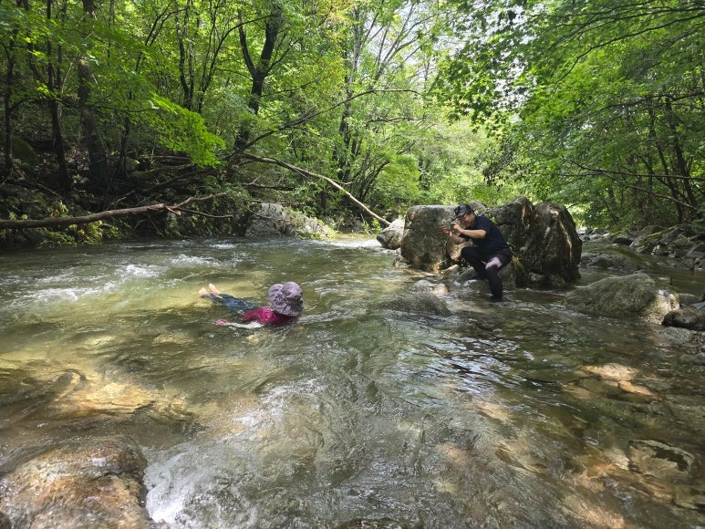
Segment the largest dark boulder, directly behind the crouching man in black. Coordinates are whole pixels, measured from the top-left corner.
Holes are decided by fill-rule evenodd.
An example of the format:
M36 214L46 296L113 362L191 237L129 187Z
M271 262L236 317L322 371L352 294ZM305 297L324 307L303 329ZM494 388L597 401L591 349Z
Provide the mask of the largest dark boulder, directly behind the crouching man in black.
M580 277L582 241L564 206L524 197L499 207L472 203L478 213L496 223L512 245L517 285L570 285ZM401 256L411 266L438 272L460 261L460 246L451 244L439 225L452 217L452 206L414 206L405 218ZM472 243L467 243L472 244ZM509 268L509 266L507 267Z

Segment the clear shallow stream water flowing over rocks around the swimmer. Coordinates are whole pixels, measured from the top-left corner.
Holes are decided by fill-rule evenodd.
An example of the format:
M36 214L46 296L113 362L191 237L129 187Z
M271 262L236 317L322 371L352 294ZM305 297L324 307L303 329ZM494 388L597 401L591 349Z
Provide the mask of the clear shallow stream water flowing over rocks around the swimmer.
M389 310L422 277L393 261L355 238L1 254L0 472L128 435L168 527L705 525L705 368L678 333L513 288ZM196 295L286 280L289 327L215 326Z

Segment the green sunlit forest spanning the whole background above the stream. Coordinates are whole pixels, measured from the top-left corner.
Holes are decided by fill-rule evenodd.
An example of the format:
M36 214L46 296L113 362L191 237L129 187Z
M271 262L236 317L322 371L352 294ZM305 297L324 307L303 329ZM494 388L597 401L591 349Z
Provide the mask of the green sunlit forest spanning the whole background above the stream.
M2 0L0 218L523 194L702 223L704 24L695 0Z

